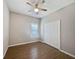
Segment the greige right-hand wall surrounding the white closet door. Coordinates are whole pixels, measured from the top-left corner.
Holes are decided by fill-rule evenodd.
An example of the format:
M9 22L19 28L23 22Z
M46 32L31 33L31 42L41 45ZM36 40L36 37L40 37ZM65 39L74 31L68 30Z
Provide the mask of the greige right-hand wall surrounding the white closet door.
M61 49L75 55L75 6L74 3L42 18L41 38L44 40L43 25L60 20ZM51 34L50 34L51 35ZM51 38L52 39L52 38Z

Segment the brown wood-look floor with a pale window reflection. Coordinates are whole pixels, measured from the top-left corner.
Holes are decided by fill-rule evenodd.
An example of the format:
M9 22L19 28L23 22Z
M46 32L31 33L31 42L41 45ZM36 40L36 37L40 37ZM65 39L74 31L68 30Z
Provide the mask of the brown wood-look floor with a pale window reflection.
M59 50L41 43L9 47L4 59L75 59Z

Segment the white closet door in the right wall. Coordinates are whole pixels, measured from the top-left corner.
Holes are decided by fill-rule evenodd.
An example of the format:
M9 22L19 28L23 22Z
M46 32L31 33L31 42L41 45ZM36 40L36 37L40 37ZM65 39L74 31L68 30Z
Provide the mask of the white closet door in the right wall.
M44 24L44 42L60 49L60 21Z

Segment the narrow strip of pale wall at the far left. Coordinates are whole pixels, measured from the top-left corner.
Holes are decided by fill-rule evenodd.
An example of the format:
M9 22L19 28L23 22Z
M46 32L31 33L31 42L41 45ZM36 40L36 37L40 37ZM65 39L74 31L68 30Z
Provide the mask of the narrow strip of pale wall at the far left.
M9 40L9 10L5 1L3 2L3 55L5 55Z

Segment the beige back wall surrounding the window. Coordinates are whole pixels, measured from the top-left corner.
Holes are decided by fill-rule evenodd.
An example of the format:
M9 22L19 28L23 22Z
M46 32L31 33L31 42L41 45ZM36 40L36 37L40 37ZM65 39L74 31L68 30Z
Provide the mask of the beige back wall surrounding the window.
M39 40L39 34L37 38L31 37L31 24L37 23L39 25L39 19L13 12L11 12L10 16L9 45Z

